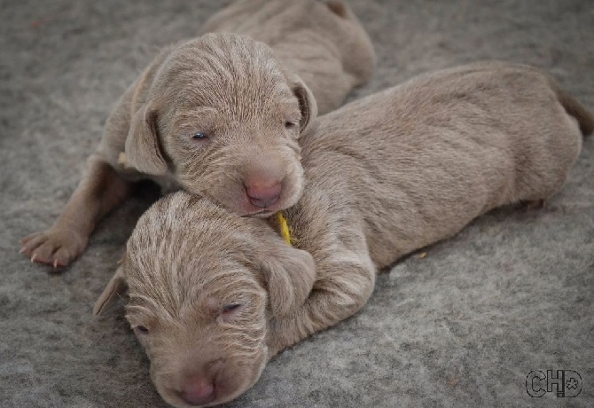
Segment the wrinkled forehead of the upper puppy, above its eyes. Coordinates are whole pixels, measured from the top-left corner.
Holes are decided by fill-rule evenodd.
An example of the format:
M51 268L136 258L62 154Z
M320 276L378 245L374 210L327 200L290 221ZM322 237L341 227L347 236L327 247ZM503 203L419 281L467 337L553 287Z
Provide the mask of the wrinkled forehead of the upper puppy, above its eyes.
M160 70L160 88L176 103L249 116L297 99L272 51L239 35L204 35L178 47Z

